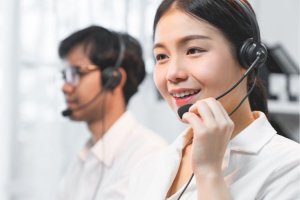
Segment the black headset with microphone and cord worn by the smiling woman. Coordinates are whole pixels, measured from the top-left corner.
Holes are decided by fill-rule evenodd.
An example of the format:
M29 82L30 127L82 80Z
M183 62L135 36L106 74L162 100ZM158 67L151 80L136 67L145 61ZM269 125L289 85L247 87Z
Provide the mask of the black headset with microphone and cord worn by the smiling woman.
M224 97L229 92L231 92L234 88L236 88L245 79L245 77L247 77L250 74L251 71L253 70L257 71L259 67L263 66L268 57L267 48L261 42L260 39L260 31L259 31L258 23L254 12L252 11L252 9L249 8L248 5L243 3L242 0L234 0L234 2L237 4L237 6L242 10L242 12L247 16L248 20L250 21L253 37L245 40L239 51L239 61L241 65L247 69L247 71L240 78L240 80L238 80L231 88L229 88L222 95L218 96L216 98L217 100ZM242 105L243 101L250 95L250 93L254 89L255 83L256 83L256 77L252 87L249 89L246 96L242 99L239 105L237 105L236 108L229 115L233 114ZM180 118L182 118L184 113L188 112L191 106L192 104L187 104L178 109L178 115L180 116ZM194 177L194 173L191 175L189 181L185 185L184 189L180 193L177 200L180 200L180 198L186 191L187 187L189 186L190 182L192 181L193 177Z

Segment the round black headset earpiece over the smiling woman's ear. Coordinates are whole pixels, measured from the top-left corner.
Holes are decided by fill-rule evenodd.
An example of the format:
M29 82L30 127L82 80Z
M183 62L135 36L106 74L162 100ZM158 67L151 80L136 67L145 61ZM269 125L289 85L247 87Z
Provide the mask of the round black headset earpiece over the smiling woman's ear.
M264 63L267 55L266 46L262 43L255 43L253 38L247 39L240 49L240 61L246 68L249 68L258 56L260 56L259 63Z

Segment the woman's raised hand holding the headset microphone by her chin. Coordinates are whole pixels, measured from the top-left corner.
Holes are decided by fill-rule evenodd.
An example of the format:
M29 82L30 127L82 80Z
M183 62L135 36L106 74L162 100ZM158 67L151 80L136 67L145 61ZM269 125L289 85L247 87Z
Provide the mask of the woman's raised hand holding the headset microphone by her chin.
M183 120L193 129L191 161L195 175L220 175L234 129L222 104L214 98L199 100L183 115Z

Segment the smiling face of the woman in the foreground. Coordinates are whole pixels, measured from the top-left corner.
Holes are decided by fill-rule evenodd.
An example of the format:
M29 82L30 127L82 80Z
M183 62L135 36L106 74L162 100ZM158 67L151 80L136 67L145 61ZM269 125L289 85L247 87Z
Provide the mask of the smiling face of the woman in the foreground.
M153 52L156 87L176 112L182 105L216 98L244 73L218 29L175 8L158 22ZM227 111L238 104L245 89L244 81L220 100Z

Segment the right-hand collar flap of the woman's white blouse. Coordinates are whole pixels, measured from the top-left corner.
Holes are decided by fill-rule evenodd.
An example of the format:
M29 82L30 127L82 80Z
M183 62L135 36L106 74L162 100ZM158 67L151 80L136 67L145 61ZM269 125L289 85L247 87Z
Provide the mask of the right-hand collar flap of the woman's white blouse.
M255 121L230 141L232 151L258 153L276 134L263 112L253 112Z

